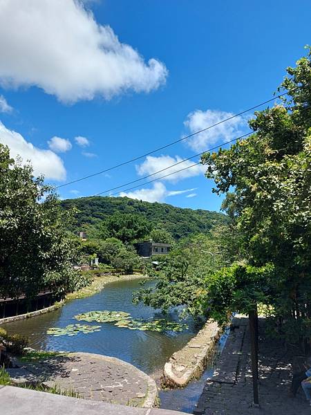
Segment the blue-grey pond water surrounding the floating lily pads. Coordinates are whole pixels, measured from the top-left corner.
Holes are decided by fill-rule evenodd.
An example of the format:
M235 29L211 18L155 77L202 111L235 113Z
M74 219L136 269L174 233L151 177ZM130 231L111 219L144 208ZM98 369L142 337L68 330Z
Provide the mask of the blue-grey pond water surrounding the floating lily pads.
M154 284L153 282L149 283ZM11 333L27 335L30 347L57 351L84 351L113 356L131 363L153 378L160 376L164 364L170 356L189 342L198 332L198 326L192 319L185 323L188 328L182 332L129 330L114 326L113 323L82 322L73 319L74 315L88 311L124 311L131 313L134 319L161 318L160 311L142 304L132 304L133 292L140 288L140 279L120 281L108 284L104 290L91 297L74 299L56 311L32 317L28 320L12 322L3 327ZM169 314L171 321L178 321L178 311ZM55 337L46 331L53 327L65 327L68 324L100 325L100 331L94 333L78 333L74 336ZM222 347L220 342L219 347ZM160 391L160 407L192 412L204 387L207 376L211 376L209 367L199 379L191 382L185 389Z

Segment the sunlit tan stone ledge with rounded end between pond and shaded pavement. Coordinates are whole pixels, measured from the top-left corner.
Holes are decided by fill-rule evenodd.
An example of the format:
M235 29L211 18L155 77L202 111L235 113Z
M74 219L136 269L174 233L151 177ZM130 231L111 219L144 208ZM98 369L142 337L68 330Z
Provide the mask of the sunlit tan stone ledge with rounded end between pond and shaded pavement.
M216 322L207 321L196 337L184 348L173 353L169 362L164 365L162 386L185 387L191 379L200 376L214 353L221 331Z

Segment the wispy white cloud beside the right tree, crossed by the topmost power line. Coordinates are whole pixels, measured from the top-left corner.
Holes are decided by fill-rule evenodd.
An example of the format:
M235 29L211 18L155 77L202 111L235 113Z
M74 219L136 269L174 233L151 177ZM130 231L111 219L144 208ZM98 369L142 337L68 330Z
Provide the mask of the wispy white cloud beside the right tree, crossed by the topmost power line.
M195 133L232 116L234 113L214 109L207 111L196 109L188 114L184 124L189 129L189 133ZM187 138L186 142L195 151L205 151L216 143L228 142L243 134L247 127L247 118L246 116L232 118L232 120L222 122L207 131Z

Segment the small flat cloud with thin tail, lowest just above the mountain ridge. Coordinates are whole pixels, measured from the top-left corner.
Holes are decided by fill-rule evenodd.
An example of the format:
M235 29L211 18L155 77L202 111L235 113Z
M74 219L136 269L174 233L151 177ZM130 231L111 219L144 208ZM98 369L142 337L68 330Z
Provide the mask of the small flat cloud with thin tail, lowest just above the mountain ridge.
M121 192L121 197L129 197L131 199L138 199L147 202L163 202L164 199L168 196L176 196L178 194L183 194L187 192L192 192L194 189L187 190L167 190L165 185L161 182L156 182L153 184L151 189L138 189L133 192Z

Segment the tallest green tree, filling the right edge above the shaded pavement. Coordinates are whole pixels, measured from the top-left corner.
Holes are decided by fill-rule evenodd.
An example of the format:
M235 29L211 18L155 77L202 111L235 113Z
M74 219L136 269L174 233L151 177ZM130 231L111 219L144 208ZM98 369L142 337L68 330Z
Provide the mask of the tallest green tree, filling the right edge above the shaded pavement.
M261 293L283 321L283 335L303 340L311 334L310 50L287 71L279 89L288 90L283 105L256 112L252 136L205 154L202 163L214 192L227 195L223 208L239 234L245 266L254 274L255 268L274 269L261 275ZM241 269L234 275L243 277Z

